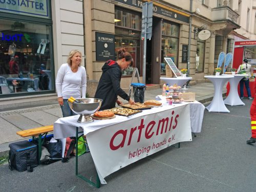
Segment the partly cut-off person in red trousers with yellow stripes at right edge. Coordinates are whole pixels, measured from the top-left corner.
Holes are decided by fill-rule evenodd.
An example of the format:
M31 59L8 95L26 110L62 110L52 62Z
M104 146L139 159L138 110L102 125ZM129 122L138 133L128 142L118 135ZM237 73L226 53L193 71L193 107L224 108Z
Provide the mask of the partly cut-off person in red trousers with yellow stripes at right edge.
M254 93L256 93L256 82L254 83ZM251 103L250 108L251 115L251 138L246 141L247 144L256 142L256 94L254 94L254 99Z

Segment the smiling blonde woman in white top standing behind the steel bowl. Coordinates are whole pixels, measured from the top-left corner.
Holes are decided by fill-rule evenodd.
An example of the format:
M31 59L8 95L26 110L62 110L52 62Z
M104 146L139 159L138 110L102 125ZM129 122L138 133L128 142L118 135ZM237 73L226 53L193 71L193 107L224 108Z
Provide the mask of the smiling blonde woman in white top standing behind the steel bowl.
M79 50L72 50L69 53L67 63L62 64L57 73L55 84L58 95L58 103L60 105L63 117L77 115L70 109L68 98L71 96L74 98L86 98L86 68L81 66L81 61L82 53ZM61 143L61 161L67 162L69 158L64 158L66 138L61 139Z

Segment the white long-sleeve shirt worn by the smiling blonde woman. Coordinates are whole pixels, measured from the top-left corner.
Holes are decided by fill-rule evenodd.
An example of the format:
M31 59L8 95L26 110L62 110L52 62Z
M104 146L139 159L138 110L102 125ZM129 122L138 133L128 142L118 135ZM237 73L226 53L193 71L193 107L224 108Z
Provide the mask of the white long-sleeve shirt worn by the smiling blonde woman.
M74 73L68 63L62 64L58 70L55 85L58 97L81 98L82 93L82 98L86 98L86 68L80 66Z

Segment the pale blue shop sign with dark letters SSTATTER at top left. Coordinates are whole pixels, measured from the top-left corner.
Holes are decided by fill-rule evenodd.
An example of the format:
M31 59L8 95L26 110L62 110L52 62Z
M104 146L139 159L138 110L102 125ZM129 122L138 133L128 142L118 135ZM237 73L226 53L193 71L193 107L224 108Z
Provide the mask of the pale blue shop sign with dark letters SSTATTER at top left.
M0 11L50 18L49 0L1 0Z

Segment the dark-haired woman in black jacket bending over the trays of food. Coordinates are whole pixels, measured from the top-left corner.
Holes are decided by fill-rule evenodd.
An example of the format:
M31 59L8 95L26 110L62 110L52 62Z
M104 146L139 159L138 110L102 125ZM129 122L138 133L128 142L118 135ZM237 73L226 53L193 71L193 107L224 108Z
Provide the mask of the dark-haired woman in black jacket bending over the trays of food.
M120 49L117 53L117 61L108 60L102 67L102 75L95 93L95 98L102 99L100 110L114 108L116 103L122 104L117 96L134 104L134 100L130 98L120 87L122 70L127 69L133 64L133 58L129 52Z

